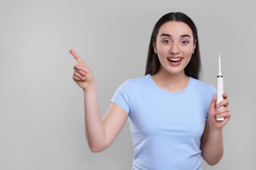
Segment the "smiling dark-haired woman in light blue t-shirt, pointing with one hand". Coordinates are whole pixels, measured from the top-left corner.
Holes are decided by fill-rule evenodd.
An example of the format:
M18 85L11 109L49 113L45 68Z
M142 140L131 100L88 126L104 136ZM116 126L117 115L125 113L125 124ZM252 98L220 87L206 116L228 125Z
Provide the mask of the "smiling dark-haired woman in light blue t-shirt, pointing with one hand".
M73 50L70 53L78 62L73 79L84 92L92 152L110 146L129 118L133 169L202 169L202 157L209 165L221 160L222 129L231 116L228 99L224 93L224 100L215 105L215 88L198 80L198 33L186 14L171 12L158 20L145 76L121 84L102 119L93 73Z

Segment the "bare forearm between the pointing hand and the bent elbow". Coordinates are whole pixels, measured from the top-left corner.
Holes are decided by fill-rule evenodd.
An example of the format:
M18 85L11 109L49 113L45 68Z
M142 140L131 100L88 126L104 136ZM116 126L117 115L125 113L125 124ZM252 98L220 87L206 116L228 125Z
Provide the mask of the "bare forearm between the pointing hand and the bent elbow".
M87 142L92 152L99 152L104 150L105 132L100 117L95 86L91 87L90 90L84 90L84 107Z

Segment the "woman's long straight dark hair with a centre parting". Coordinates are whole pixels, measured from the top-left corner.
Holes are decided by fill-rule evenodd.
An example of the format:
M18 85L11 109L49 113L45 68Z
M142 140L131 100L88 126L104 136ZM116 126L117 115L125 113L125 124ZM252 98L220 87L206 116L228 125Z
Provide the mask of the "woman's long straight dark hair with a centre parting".
M156 22L154 29L152 31L152 35L150 38L150 45L148 48L148 59L146 61L146 71L145 75L155 75L158 73L161 67L161 63L156 56L157 54L154 52L154 43L156 43L156 37L158 36L159 29L161 25L165 24L166 22L176 21L176 22L184 22L187 24L190 29L192 30L194 40L196 40L196 48L190 62L186 65L184 72L187 76L192 76L193 78L199 79L200 78L200 71L201 71L201 59L200 59L200 50L199 50L199 41L198 41L198 31L196 29L196 25L194 22L183 14L182 12L170 12L165 14Z

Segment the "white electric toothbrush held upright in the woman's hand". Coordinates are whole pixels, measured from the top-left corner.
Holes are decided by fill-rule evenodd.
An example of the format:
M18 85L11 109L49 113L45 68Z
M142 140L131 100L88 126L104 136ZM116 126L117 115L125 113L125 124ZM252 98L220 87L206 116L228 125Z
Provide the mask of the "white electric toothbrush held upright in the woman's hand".
M223 92L224 92L224 86L223 86L223 75L221 74L221 52L218 53L219 56L219 73L217 75L217 102L216 105L219 104L221 101L223 101ZM217 108L217 110L223 109ZM216 120L224 120L224 118L216 118Z

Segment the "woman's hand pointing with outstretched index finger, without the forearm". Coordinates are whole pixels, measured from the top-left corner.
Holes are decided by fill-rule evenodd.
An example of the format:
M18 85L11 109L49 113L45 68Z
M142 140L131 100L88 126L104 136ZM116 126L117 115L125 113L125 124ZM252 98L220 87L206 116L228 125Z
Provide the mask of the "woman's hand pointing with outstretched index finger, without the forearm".
M88 89L90 86L95 86L95 78L88 65L74 52L74 50L70 50L70 54L72 54L77 61L77 64L74 65L73 80L83 90Z

